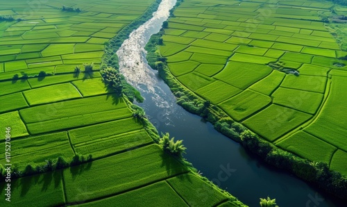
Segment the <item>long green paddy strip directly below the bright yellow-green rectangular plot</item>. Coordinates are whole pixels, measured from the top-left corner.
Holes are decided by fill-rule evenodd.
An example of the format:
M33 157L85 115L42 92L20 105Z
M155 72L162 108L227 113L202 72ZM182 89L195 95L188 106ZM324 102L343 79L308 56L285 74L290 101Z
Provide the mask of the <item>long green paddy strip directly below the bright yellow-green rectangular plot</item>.
M24 122L35 123L119 108L126 108L126 104L122 98L103 95L64 101L61 103L46 104L43 106L35 106L20 110L19 112L23 117Z

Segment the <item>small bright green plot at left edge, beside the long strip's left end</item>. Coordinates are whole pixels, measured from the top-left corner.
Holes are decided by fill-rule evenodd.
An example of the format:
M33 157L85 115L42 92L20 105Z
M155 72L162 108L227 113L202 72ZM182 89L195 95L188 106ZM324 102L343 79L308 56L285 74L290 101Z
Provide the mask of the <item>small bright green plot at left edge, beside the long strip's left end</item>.
M7 127L10 127L11 138L17 138L28 135L28 131L26 131L26 126L24 125L21 117L19 117L18 111L1 114L0 127L1 129L6 129Z

